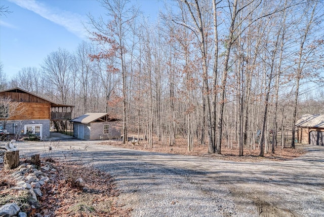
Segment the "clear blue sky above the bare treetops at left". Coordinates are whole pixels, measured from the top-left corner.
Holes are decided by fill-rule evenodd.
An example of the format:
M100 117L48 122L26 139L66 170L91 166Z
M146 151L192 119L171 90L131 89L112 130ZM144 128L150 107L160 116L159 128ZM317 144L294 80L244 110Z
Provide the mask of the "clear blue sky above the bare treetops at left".
M156 19L163 2L132 0L144 16ZM39 67L59 47L73 52L88 35L82 21L98 17L104 9L95 0L0 0L12 13L0 17L0 61L13 77L24 67Z

